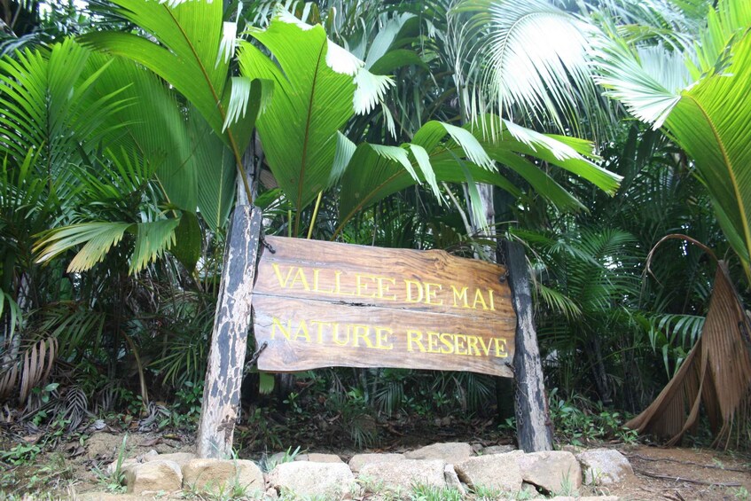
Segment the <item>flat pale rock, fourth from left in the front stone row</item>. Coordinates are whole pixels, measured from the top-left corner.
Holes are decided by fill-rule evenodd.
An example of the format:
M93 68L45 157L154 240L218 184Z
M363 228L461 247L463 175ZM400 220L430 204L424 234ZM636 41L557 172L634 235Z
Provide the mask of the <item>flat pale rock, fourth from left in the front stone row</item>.
M410 491L416 483L439 489L446 487L442 459L403 459L368 463L360 468L357 479L372 482L379 489Z

